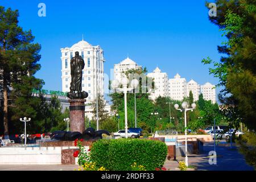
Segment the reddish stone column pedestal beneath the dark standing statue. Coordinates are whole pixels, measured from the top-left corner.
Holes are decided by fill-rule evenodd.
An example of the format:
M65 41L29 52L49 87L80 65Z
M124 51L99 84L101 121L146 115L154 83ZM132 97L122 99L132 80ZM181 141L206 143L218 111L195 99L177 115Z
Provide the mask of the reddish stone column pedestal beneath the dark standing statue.
M84 124L84 112L85 112L85 103L84 99L72 99L69 100L70 106L70 128L72 132L79 131L83 133L85 130Z

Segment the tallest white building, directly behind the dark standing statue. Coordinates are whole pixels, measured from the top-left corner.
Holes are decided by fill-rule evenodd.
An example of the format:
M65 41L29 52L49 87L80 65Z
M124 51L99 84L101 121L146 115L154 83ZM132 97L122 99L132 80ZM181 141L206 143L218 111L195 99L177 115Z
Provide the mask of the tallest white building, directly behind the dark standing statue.
M85 62L82 74L82 90L88 92L86 98L88 102L92 102L96 98L96 85L98 93L104 95L104 51L100 46L92 46L88 42L81 40L74 44L71 48L61 48L62 63L62 91L69 92L71 84L71 67L70 61L75 52L78 51Z

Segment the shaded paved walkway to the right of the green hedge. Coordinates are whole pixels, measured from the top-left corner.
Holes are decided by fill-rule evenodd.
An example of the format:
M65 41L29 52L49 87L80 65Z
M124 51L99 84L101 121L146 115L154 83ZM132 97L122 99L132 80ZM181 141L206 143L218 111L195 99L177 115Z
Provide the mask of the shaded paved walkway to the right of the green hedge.
M209 151L214 149L213 142L204 144L204 152L200 155L189 155L188 164L196 166L197 171L253 171L254 168L246 164L243 155L238 152L237 147L232 149L229 146L216 146L217 164L209 164ZM178 162L185 160L184 157L178 157L176 161L167 160L164 166L170 171L179 170Z

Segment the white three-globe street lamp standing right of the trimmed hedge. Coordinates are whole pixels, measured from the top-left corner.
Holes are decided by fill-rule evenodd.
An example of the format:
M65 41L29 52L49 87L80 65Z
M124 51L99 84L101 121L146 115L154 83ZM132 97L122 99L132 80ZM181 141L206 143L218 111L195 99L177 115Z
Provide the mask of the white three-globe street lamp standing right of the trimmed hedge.
M180 110L181 112L184 111L184 119L185 119L185 165L188 167L188 155L187 155L187 151L188 151L188 145L187 145L187 111L191 110L193 111L193 109L196 108L196 104L193 103L191 106L192 108L188 108L188 102L183 102L182 105L183 109L179 109L179 105L175 104L174 107L176 110Z

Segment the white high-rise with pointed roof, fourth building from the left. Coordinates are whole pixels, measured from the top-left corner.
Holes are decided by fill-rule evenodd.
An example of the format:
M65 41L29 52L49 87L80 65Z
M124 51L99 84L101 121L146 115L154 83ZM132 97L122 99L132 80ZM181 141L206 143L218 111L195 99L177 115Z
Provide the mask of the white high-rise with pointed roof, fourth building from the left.
M174 78L169 80L169 97L172 100L183 100L186 92L186 79L181 78L180 75L177 73Z

